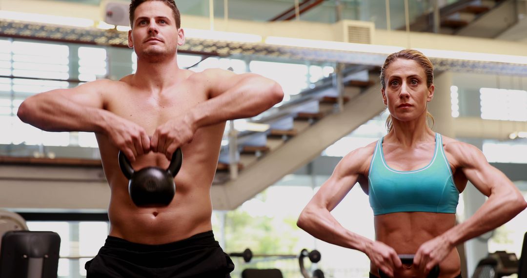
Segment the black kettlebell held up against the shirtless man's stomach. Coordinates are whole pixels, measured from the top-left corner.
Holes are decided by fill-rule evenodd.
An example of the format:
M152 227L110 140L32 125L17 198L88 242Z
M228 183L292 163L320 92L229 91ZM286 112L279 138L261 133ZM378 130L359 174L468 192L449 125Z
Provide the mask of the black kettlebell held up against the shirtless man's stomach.
M174 177L183 162L183 153L178 148L166 170L149 166L134 171L128 158L119 151L119 166L124 176L130 180L128 193L136 206L167 206L175 194Z

